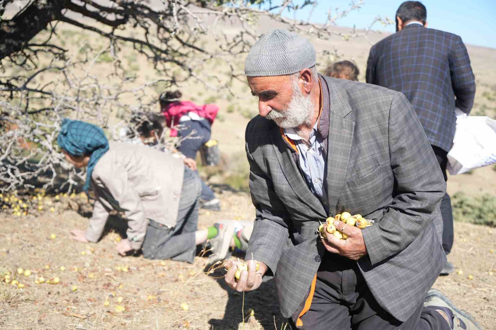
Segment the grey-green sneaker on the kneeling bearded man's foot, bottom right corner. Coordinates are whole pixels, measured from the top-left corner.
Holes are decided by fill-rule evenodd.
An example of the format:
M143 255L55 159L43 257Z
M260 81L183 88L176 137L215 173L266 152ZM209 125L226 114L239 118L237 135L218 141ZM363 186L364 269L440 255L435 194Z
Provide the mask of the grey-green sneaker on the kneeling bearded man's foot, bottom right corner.
M446 314L449 327L453 330L482 330L470 313L456 308L453 302L439 290L431 289L427 292L424 307L431 307Z

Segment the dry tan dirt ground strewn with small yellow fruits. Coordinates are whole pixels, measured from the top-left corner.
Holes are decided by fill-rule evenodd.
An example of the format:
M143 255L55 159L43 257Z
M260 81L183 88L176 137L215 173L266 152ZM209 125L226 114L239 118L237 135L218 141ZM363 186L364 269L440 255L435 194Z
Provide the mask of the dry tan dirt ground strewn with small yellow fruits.
M201 211L200 227L218 220L253 219L247 193L224 192L219 197L224 211ZM19 289L0 283L0 329L283 328L273 281L245 295L243 313L243 294L229 289L223 279L205 275L205 257L197 257L193 265L120 257L114 248L119 228L98 244L72 241L69 230L87 224L75 211L19 218L3 213L0 221L0 272L9 270L25 284ZM51 234L57 237L51 239ZM434 285L487 330L496 329L495 242L496 228L455 223L449 260L463 274L439 277ZM16 275L19 267L32 275ZM35 284L39 276L60 277L60 283ZM109 306L104 306L106 300ZM116 311L117 306L124 311Z

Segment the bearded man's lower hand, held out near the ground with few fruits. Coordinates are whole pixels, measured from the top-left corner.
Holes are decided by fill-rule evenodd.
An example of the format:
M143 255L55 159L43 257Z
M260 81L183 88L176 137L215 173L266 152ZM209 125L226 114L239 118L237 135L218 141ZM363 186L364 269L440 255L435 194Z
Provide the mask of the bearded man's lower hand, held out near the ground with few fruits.
M258 271L255 271L256 262L260 264ZM251 291L258 288L262 283L263 274L265 274L265 272L267 271L267 266L262 262L256 260L248 260L246 263L248 264L248 272L241 272L240 279L238 279L237 281L235 280L234 275L238 270L238 265L242 264L242 262L228 261L224 265L226 270L229 270L224 277L227 285L239 292Z

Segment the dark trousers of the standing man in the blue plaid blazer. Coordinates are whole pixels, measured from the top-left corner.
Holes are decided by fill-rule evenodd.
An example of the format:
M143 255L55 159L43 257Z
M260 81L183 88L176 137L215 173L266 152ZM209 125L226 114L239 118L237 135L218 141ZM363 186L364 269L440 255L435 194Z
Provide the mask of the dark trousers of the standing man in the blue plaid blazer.
M448 176L446 175L446 165L448 165L448 153L439 147L431 145L434 150L435 158L441 167L442 175L444 176L444 181L447 181ZM442 248L444 253L447 255L451 252L451 247L453 247L453 210L451 209L451 199L446 193L441 200L441 216L442 216Z

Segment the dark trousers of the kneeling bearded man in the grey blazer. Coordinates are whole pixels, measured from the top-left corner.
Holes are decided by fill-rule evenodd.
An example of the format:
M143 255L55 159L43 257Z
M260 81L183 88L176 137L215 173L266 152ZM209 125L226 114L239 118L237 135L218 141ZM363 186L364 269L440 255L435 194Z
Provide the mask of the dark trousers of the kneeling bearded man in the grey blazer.
M317 271L310 310L293 330L451 330L434 308L420 305L405 322L388 314L372 295L357 263L326 252Z

